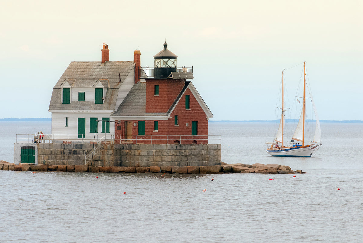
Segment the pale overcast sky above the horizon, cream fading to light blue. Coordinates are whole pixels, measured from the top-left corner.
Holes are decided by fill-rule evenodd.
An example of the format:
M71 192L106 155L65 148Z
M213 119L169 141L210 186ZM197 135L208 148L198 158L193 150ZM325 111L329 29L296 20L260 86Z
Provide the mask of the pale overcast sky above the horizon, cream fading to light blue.
M193 66L212 120L273 120L281 71L307 61L321 120L363 120L360 0L3 1L0 118L51 117L71 61L134 60L163 49ZM293 99L302 65L285 71Z

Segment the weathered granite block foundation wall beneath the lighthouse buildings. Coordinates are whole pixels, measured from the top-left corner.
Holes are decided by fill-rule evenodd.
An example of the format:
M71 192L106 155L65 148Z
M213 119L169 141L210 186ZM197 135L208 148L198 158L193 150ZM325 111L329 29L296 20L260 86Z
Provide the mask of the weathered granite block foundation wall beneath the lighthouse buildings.
M36 146L36 161L42 165L122 167L221 165L220 144L102 144L95 149L93 158L91 156L86 161L85 154L93 148L93 144L90 143L38 143Z

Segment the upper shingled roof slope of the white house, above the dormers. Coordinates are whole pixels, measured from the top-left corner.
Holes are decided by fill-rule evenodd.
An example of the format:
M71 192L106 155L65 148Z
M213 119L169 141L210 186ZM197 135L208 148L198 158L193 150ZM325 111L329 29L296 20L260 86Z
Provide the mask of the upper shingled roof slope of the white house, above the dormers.
M103 64L101 62L71 62L54 88L59 88L64 80L72 85L72 81L77 79L95 81L106 79L110 81L110 88L118 88L134 65L134 61L107 61ZM119 74L121 74L121 82L119 82Z

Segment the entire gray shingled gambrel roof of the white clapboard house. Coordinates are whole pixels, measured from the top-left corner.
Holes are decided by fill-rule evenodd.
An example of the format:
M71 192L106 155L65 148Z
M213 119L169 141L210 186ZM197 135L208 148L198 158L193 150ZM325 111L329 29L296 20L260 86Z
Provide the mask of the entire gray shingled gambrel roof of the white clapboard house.
M49 110L114 110L118 88L134 68L134 61L71 62L57 84L53 87ZM121 82L120 77L121 76ZM92 87L97 80L107 89L105 103L94 104L90 101L72 101L62 104L60 86L67 80L72 87Z

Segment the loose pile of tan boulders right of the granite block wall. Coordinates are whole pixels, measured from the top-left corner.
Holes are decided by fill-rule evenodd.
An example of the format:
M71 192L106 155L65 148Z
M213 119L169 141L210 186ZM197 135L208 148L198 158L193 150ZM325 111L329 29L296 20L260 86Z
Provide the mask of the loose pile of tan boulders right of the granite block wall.
M226 164L222 162L224 173L255 173L255 174L305 174L302 170L291 170L286 165L265 165L265 164Z

